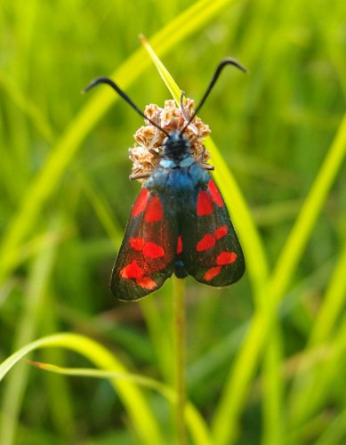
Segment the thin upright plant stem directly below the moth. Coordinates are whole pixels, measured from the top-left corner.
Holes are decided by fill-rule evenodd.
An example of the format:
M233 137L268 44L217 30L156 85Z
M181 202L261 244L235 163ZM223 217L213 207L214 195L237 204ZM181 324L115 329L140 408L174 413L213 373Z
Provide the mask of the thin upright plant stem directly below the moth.
M177 443L179 445L185 445L185 286L183 279L177 279L175 277L173 279L173 317L175 388L177 392L177 403L175 410L176 433Z

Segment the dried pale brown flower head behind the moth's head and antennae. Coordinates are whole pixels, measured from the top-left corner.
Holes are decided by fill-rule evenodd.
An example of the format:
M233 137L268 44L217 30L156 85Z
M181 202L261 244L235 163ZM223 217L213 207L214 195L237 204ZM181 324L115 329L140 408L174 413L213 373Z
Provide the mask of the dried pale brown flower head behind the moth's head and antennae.
M187 98L183 102L183 108L178 108L173 99L165 101L162 109L156 104L147 105L144 115L149 117L163 128L166 133L174 130L182 130L192 116L195 102ZM205 125L199 117L195 117L193 123L184 131L184 136L191 145L191 156L201 163L205 163L210 154L205 150L203 140L211 133L209 125ZM157 166L165 140L165 133L161 132L155 125L141 126L134 134L136 143L129 149L130 159L133 161L132 179L143 181Z

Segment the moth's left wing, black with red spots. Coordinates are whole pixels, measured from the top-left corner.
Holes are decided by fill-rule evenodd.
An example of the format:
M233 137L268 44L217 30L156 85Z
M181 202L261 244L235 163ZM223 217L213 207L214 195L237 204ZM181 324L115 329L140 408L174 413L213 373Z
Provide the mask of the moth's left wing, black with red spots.
M174 270L178 225L158 194L142 187L133 204L110 280L118 300L138 300L161 287Z

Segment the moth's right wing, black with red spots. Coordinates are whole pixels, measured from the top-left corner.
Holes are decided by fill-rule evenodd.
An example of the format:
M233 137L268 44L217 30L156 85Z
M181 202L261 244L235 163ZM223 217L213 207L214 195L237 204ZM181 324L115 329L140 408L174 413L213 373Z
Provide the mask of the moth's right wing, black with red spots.
M212 178L197 190L194 208L181 214L181 239L185 270L197 281L224 287L242 277L243 251Z

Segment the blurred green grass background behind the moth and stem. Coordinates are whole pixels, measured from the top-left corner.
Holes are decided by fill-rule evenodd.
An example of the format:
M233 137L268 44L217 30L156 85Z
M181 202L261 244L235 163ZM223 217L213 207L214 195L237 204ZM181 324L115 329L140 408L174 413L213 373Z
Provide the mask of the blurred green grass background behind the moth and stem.
M345 443L346 3L4 0L0 27L0 360L76 332L172 384L172 280L142 303L109 292L142 120L111 91L80 93L116 70L141 109L162 106L143 33L196 101L223 57L249 69L225 70L199 113L254 224L229 206L249 266L239 283L186 279L189 399L211 443ZM90 366L61 349L32 357ZM169 405L145 397L170 443ZM4 445L141 443L107 380L20 363L0 402Z

